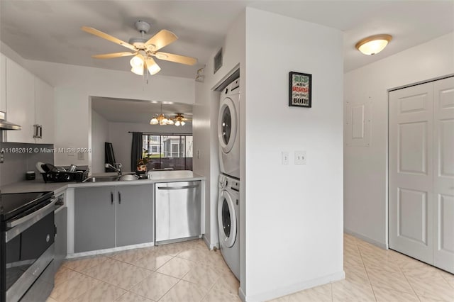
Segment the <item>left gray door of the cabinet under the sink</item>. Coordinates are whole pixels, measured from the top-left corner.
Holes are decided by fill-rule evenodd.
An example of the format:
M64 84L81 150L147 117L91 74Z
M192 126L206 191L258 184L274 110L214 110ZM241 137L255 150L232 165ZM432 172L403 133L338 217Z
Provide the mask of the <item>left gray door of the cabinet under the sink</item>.
M74 252L115 247L115 186L75 189Z

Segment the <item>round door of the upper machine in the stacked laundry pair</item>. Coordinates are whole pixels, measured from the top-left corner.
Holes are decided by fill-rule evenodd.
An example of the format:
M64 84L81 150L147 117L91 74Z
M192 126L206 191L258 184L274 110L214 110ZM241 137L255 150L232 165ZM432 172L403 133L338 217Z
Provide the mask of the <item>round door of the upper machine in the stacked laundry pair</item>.
M238 127L238 115L235 104L231 98L226 97L221 101L218 116L218 139L224 153L232 150L236 140L236 128Z

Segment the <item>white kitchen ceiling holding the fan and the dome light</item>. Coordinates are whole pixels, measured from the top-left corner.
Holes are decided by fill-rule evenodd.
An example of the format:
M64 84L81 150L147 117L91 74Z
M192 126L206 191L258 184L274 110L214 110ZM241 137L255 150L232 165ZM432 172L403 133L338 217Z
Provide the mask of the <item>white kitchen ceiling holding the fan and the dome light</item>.
M80 28L94 27L127 42L139 36L135 21L144 20L153 24L148 36L163 28L179 36L162 51L199 60L194 67L158 60L160 74L194 78L245 6L343 30L345 72L454 30L454 1L1 0L0 40L28 60L128 70L128 57L92 59L127 49ZM355 50L358 40L377 33L394 36L383 52L369 57Z

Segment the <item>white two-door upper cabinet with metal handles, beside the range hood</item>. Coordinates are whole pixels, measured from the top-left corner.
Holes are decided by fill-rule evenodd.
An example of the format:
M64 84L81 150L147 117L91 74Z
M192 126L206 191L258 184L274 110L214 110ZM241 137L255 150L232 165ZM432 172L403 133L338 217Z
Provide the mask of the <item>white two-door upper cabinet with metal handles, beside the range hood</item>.
M2 79L3 81L3 79ZM54 90L6 57L6 118L22 130L7 131L6 142L54 143Z

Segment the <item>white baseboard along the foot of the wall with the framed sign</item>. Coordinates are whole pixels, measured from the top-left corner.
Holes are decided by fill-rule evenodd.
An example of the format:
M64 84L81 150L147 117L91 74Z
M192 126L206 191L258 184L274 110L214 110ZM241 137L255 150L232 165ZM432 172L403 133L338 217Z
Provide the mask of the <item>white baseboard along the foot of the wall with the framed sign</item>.
M328 276L322 276L317 279L292 284L291 286L285 286L279 289L274 289L273 291L267 291L253 296L246 296L245 293L243 293L242 289L240 288L238 294L240 296L240 299L245 302L268 301L274 298L287 296L290 293L297 293L298 291L304 291L304 289L311 289L312 287L315 286L320 286L323 284L328 284L330 282L339 281L343 279L345 279L345 272L341 271L334 274L329 274Z

